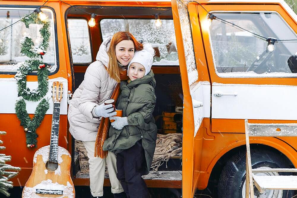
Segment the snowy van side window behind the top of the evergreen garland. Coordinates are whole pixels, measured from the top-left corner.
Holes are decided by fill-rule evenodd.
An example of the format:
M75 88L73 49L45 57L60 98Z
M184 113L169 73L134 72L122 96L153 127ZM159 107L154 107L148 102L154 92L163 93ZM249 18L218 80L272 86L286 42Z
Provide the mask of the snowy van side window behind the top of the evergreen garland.
M35 9L0 7L0 29L3 29L0 31L0 72L16 72L20 63L29 59L20 52L20 42L24 37L29 37L34 42L34 46L31 46L33 51L39 50L38 46L42 41L40 36L42 25L30 24L29 28L26 28L25 24L19 21L23 16L34 12ZM42 8L42 12L50 22L49 46L42 56L42 61L49 64L48 69L53 72L57 68L53 12L47 8Z

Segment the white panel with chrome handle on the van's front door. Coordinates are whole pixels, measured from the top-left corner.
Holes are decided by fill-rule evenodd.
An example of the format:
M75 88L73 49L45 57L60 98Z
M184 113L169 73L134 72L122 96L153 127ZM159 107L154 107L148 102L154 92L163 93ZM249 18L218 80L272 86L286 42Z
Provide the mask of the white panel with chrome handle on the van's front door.
M213 83L212 118L297 120L296 98L297 86Z

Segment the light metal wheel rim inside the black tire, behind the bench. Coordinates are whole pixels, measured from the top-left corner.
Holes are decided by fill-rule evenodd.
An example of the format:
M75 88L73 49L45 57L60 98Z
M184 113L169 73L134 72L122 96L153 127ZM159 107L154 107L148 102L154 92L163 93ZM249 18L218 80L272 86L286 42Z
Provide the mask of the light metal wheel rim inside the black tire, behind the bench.
M256 169L268 169L270 167L258 167ZM257 176L264 176L264 175L279 175L277 172L255 172L254 173ZM246 186L246 180L244 179L243 187L242 187L242 197L245 197L245 186ZM257 191L257 188L254 187L254 191ZM254 192L254 194L256 194ZM254 195L254 198L282 198L283 190L272 190L272 189L266 189L263 194ZM249 196L250 197L250 196Z

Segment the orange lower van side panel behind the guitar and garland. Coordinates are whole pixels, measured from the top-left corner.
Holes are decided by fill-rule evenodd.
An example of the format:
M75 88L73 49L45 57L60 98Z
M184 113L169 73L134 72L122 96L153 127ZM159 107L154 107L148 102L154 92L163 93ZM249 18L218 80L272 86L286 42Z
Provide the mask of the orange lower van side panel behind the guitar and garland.
M32 116L33 115L30 114L31 118ZM30 171L27 172L27 169L31 169L33 165L33 156L35 151L50 144L52 115L45 115L40 127L36 130L36 133L38 134L38 147L34 149L27 148L26 134L23 126L20 126L20 121L15 114L0 114L0 120L0 129L7 132L6 135L0 137L1 140L4 141L3 146L6 147L3 153L12 156L12 160L10 162L12 166L22 168L18 178L21 181L26 181L31 174ZM59 146L68 148L66 138L67 115L60 115ZM15 185L18 185L18 183L15 183Z

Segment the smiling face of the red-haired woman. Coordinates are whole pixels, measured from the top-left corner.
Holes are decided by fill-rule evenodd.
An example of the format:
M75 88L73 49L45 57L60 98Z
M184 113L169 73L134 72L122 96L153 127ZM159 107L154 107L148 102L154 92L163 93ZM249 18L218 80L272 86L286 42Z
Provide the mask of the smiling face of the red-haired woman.
M116 60L126 66L134 56L134 43L132 40L122 40L116 45Z

